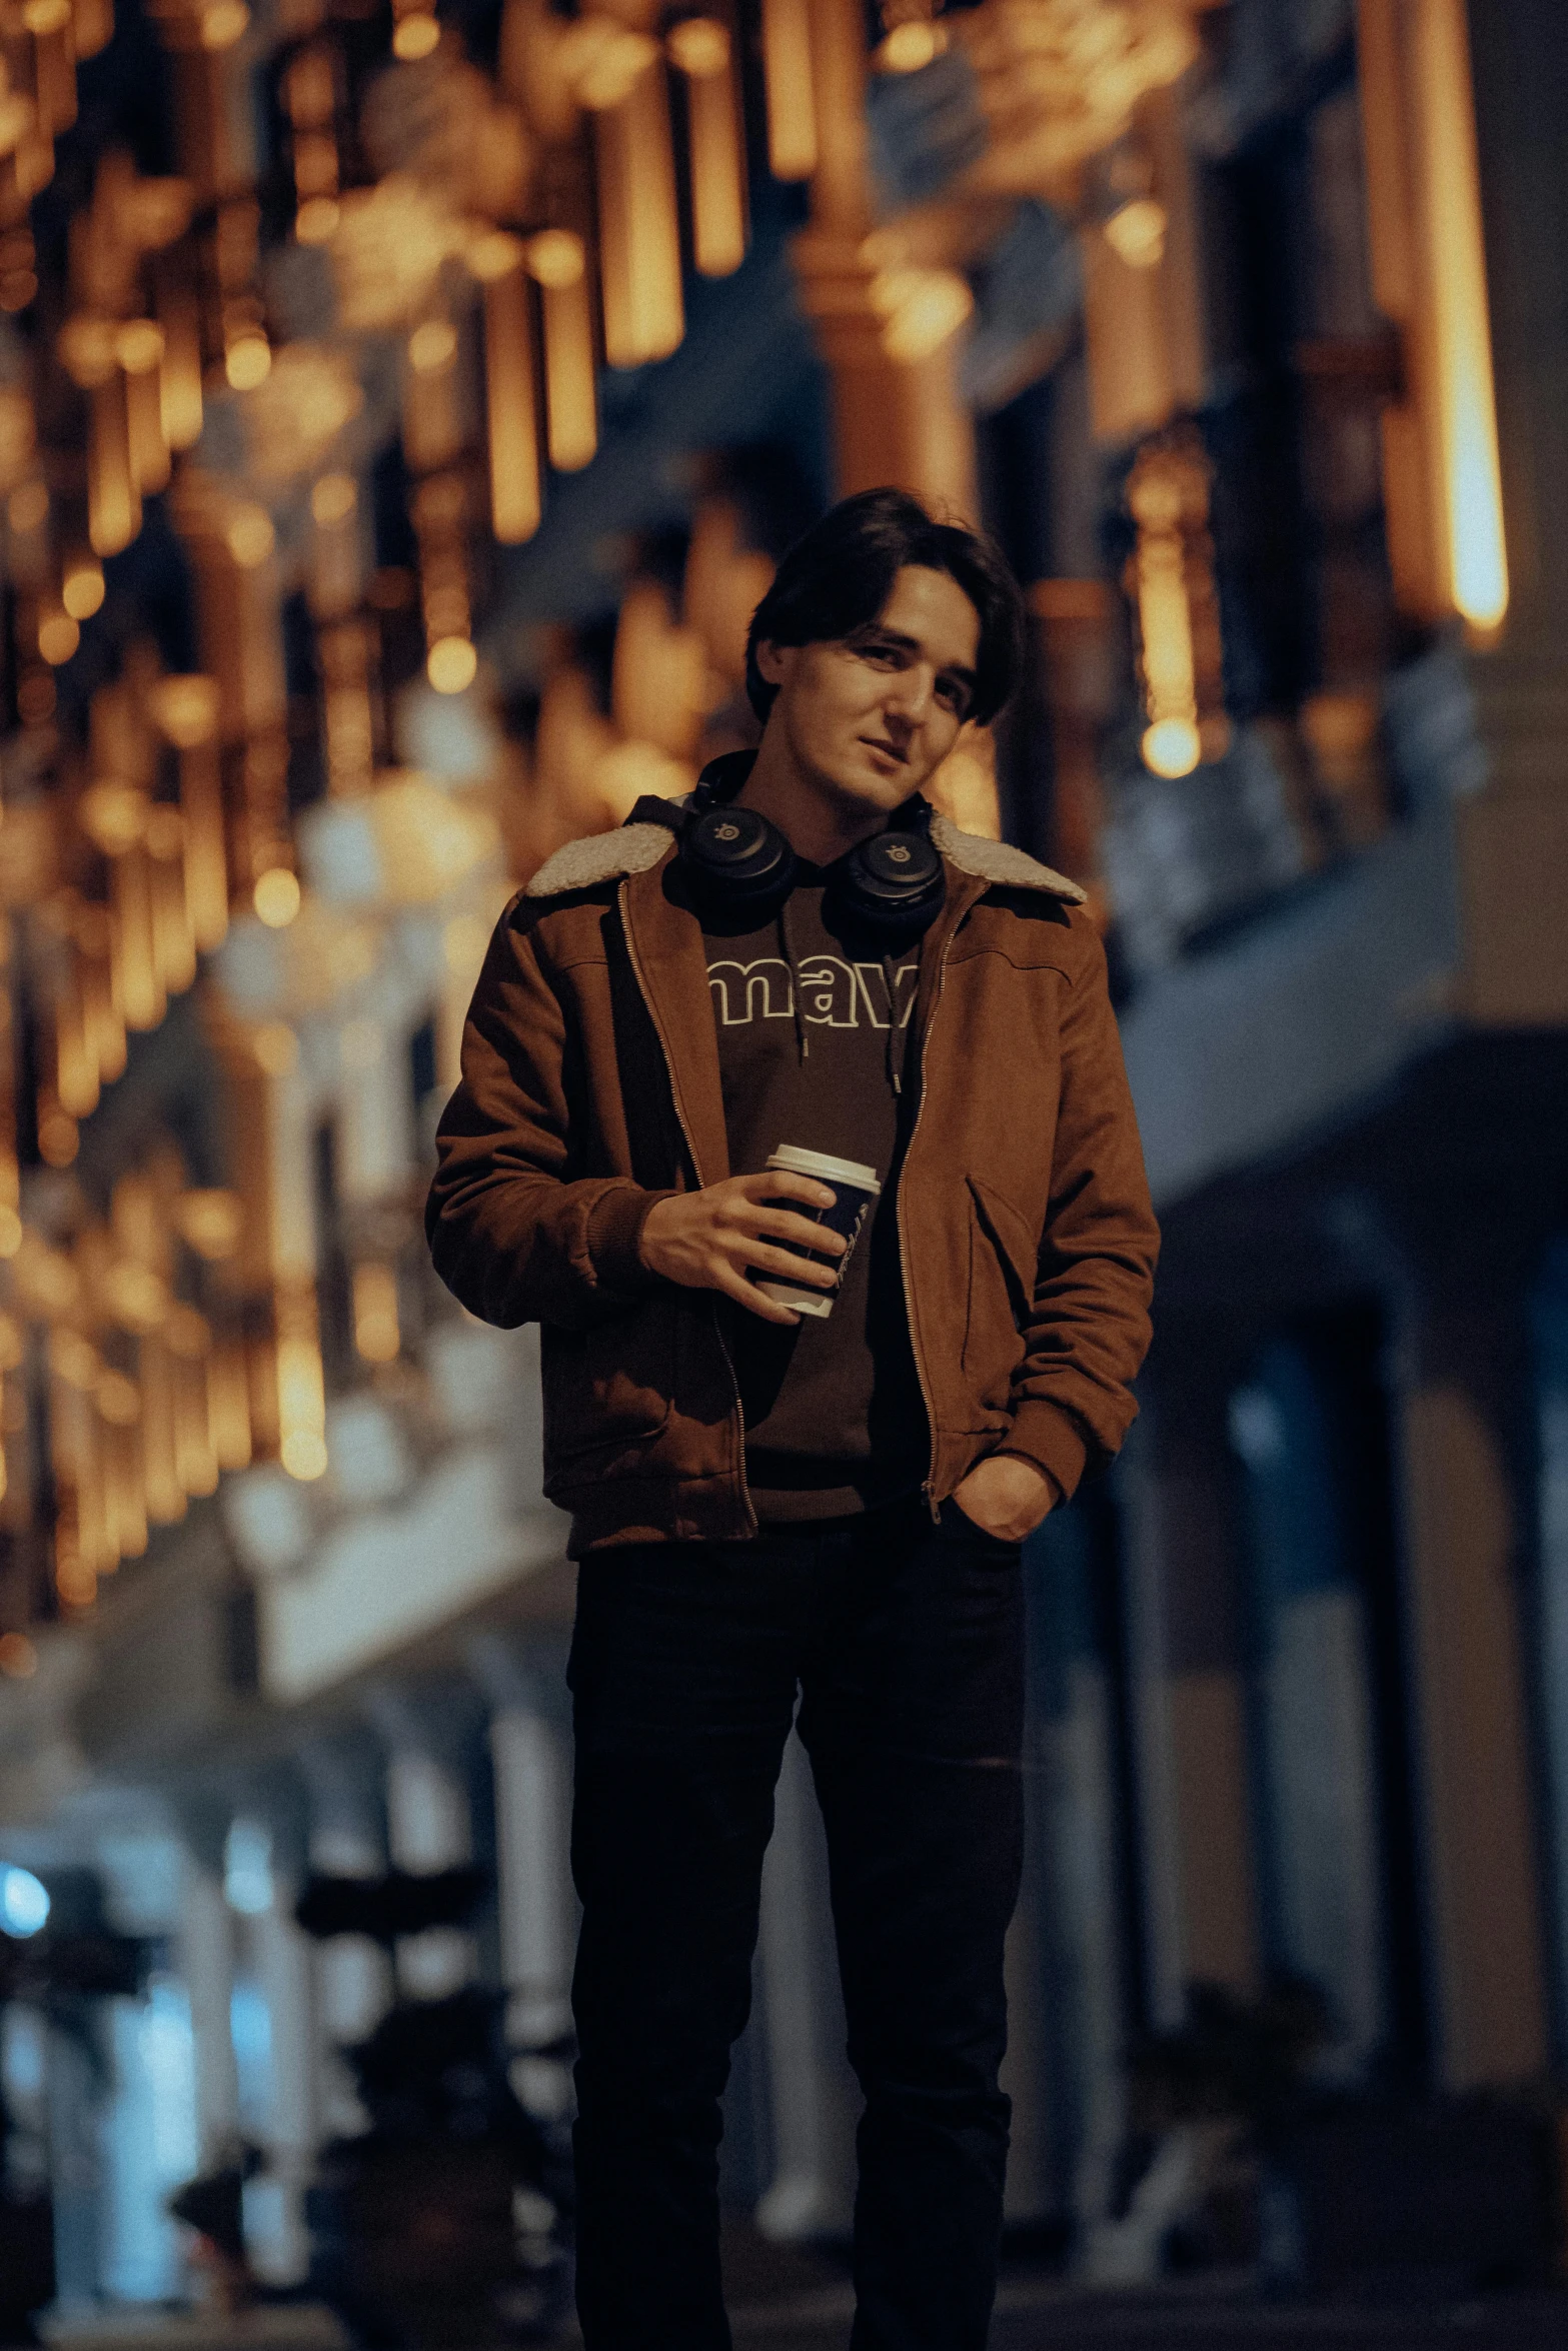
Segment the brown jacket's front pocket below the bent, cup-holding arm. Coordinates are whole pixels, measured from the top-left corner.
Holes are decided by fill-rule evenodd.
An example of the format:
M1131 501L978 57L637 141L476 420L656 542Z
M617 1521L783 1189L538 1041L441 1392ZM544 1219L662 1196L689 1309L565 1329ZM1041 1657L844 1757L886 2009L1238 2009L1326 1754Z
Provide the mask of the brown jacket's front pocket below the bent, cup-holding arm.
M654 1295L592 1331L541 1333L545 1493L559 1479L616 1476L663 1434L675 1394L679 1317Z

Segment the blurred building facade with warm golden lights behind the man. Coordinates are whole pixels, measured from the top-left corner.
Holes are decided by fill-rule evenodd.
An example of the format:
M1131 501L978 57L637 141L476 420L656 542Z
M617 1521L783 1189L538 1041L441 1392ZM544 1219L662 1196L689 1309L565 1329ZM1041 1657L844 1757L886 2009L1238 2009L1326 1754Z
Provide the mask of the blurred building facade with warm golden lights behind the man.
M395 2001L503 1991L564 2111L571 1578L430 1128L498 907L750 738L771 560L884 480L1027 585L943 792L1093 884L1168 1237L1027 1563L1013 2217L1159 2259L1192 1984L1316 1987L1345 2095L1554 2102L1568 28L1472 14L0 19L0 1864L143 1940L0 2008L63 2306L179 2292L240 2144L303 2278ZM470 1864L468 1925L294 1921ZM757 1994L726 2193L842 2231L795 1754Z

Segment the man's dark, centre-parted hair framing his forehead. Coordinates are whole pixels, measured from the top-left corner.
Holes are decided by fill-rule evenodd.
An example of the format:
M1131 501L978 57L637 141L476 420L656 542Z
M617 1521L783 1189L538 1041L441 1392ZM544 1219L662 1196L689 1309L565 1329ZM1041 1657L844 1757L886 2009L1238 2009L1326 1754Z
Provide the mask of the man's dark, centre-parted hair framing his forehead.
M752 614L745 691L764 724L778 686L757 668L757 647L832 644L867 628L907 567L945 571L980 616L969 715L997 717L1023 668L1023 597L1001 550L961 522L936 522L907 489L863 489L795 541Z

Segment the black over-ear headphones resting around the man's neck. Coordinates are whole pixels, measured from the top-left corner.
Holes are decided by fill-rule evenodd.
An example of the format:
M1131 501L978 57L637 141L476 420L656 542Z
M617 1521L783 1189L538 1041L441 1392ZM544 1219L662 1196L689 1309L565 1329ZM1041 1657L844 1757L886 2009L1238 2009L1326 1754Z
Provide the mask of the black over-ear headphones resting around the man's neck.
M698 910L755 912L757 922L766 922L795 889L799 868L778 825L755 809L733 806L752 757L726 752L710 759L686 806L644 795L628 823L670 828ZM827 868L827 900L867 931L912 938L940 915L947 875L931 844L926 802L914 799L900 816L903 825L872 832Z

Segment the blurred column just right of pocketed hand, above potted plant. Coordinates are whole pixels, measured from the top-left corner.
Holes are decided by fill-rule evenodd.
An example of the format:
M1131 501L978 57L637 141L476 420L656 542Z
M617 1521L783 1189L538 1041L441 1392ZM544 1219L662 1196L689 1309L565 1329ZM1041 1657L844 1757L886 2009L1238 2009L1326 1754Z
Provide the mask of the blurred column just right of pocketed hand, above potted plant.
M1128 1674L1143 1827L1147 2010L1194 1982L1258 1984L1246 1667L1222 1352L1166 1317L1126 1453Z

